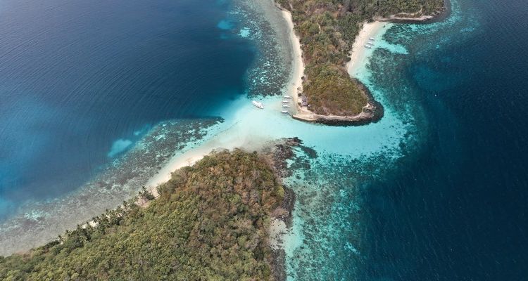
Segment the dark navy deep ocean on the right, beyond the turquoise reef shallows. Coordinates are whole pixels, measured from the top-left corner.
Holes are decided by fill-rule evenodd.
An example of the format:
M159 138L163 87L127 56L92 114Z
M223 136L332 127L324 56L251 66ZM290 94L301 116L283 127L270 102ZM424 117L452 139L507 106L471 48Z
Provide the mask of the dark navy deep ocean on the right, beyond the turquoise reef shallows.
M362 280L528 280L528 2L458 3L405 43L425 145L365 188Z

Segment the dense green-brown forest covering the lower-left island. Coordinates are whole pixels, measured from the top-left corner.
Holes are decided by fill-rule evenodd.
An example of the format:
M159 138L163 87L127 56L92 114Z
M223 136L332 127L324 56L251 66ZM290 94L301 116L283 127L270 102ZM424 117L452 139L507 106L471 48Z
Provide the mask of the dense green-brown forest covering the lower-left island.
M284 190L265 159L215 152L58 241L6 258L0 280L270 280L271 211ZM143 201L148 192L140 192Z

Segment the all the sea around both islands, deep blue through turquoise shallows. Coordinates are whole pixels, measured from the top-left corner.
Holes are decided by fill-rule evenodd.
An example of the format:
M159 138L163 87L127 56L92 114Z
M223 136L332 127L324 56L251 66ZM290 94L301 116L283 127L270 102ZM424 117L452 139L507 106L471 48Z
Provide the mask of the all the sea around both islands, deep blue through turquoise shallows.
M277 85L285 84L272 74L280 71L266 68L277 65L280 48L269 39L280 37L280 29L265 25L249 6L70 1L37 9L31 1L4 1L4 216L28 198L78 189L110 161L117 167L143 162L120 157L120 148L132 156L149 150L167 157L189 145L298 136L303 146L284 179L297 196L284 242L289 280L525 280L528 4L451 2L446 20L390 25L376 38L370 63L356 75L384 104L384 118L327 127L281 115L279 98L264 98L266 110L248 105L244 93L278 93ZM34 17L39 20L27 21ZM13 26L25 28L11 32ZM60 37L75 26L79 34ZM35 31L27 35L29 27ZM134 44L122 44L127 38ZM96 39L99 44L90 43ZM59 51L75 50L80 58L56 63ZM70 91L56 91L61 87ZM210 115L224 119L163 122ZM156 143L163 139L172 141ZM41 148L54 150L34 156ZM74 201L58 197L54 206L94 202L108 185L123 184L115 178L122 167L103 171L92 179L92 192ZM53 221L39 204L20 216L17 229Z

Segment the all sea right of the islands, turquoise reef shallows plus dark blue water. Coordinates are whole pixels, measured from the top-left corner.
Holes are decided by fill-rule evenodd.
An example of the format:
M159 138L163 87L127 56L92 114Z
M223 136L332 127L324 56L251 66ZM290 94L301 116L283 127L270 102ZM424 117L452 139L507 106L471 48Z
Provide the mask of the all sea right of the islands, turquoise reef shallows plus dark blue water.
M526 280L528 5L451 4L392 25L359 73L398 145L298 149L289 280Z

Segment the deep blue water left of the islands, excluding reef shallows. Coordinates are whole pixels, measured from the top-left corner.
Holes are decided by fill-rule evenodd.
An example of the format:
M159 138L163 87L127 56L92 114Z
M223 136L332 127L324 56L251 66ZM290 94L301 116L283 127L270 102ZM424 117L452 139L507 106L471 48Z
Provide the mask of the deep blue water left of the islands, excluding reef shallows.
M158 122L209 116L244 93L255 46L230 31L228 11L225 1L2 0L0 220L75 190Z

